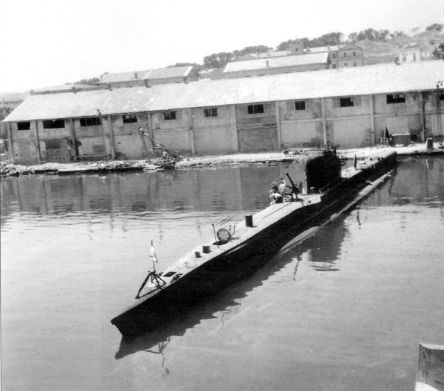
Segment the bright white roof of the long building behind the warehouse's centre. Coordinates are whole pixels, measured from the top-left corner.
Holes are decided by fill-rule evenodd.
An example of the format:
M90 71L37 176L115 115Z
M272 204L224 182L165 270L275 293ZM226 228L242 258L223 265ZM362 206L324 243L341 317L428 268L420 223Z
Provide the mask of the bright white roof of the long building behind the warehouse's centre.
M323 64L327 63L328 53L313 53L300 56L285 56L259 60L237 61L228 63L223 73L241 72L253 69L268 69L280 67L293 67L298 65Z

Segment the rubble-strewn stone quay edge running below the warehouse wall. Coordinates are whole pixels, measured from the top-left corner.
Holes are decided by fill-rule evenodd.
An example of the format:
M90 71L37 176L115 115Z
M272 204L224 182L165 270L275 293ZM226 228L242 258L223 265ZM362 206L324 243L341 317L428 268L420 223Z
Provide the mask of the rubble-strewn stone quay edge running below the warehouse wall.
M387 150L395 150L399 156L421 156L444 154L444 148L438 143L430 145L412 144L408 147L368 147L357 149L338 149L337 152L343 160L368 158L378 156ZM264 153L237 153L221 156L187 157L178 162L171 160L131 160L131 161L103 161L91 163L45 163L42 165L8 165L2 163L2 176L20 176L33 174L91 174L107 172L135 172L154 171L160 169L190 169L213 167L221 165L278 165L282 163L298 163L302 161L304 153L313 151L311 149L291 149L282 152Z

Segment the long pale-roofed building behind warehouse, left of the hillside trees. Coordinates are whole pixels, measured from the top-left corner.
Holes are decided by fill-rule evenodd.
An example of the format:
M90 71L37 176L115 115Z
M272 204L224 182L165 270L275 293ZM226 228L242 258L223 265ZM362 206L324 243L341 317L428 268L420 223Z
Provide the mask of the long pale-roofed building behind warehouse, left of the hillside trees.
M99 80L98 85L101 88L128 88L142 85L151 87L158 84L189 83L198 80L198 70L196 67L189 66L105 74Z

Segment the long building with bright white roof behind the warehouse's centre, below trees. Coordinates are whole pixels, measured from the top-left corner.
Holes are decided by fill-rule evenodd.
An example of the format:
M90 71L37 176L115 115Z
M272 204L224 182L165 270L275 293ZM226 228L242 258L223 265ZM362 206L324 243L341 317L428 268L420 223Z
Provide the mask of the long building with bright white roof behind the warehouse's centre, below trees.
M225 78L265 76L291 72L328 69L330 63L327 53L313 53L305 56L285 56L228 63L223 69Z

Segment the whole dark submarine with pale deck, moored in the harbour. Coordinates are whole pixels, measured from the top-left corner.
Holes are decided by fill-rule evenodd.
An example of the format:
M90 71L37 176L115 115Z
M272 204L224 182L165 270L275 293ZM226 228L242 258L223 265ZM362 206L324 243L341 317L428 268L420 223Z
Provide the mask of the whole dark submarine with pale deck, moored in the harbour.
M221 226L214 238L185 253L173 265L148 272L135 299L111 322L123 335L153 331L164 322L220 292L233 281L255 272L298 235L350 208L382 183L397 164L395 152L357 160L342 169L336 151L323 150L304 158L305 181L280 181L271 190L270 206L234 226ZM213 226L214 227L214 226Z

